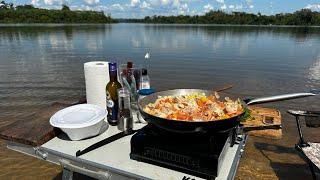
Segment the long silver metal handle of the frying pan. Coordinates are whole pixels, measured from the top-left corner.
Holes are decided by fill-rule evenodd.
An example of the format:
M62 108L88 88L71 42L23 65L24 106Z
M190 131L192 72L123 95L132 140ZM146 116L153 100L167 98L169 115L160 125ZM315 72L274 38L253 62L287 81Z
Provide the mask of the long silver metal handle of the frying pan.
M268 97L261 97L261 98L255 98L255 99L249 99L244 100L247 105L251 104L260 104L260 103L267 103L267 102L273 102L273 101L283 101L288 99L297 99L302 97L308 97L308 96L315 96L317 94L315 93L293 93L293 94L283 94L283 95L277 95L277 96L268 96Z

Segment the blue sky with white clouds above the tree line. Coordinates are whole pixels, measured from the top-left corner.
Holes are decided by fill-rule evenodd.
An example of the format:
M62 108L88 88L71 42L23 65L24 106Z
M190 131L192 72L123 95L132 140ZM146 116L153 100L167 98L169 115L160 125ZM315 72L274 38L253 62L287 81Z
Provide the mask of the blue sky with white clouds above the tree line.
M7 0L14 4L73 10L98 10L114 18L142 18L146 15L204 14L209 10L245 11L262 14L294 12L302 8L320 11L320 0Z

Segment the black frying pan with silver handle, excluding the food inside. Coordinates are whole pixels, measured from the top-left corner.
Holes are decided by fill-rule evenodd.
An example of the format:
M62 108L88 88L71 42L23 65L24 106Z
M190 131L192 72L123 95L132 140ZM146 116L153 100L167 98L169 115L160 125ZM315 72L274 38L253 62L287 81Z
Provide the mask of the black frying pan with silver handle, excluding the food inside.
M223 132L228 131L239 125L241 118L245 113L245 109L248 105L258 104L258 103L266 103L273 101L282 101L287 99L296 99L307 96L315 96L319 94L318 91L312 91L307 93L294 93L294 94L283 94L277 96L270 97L261 97L255 99L241 100L241 104L244 108L243 112L237 116L216 120L216 121L179 121L179 120L170 120L166 118L161 118L157 116L153 116L143 110L143 108L149 104L154 103L159 96L180 96L187 95L191 93L204 93L209 96L212 95L212 91L210 90L201 90L201 89L174 89L167 91L160 91L154 94L148 95L144 98L141 98L138 101L139 111L148 123L170 132L174 133L205 133L205 132ZM224 100L225 97L230 97L233 100L236 100L238 97L227 95L223 92L219 92L220 99Z

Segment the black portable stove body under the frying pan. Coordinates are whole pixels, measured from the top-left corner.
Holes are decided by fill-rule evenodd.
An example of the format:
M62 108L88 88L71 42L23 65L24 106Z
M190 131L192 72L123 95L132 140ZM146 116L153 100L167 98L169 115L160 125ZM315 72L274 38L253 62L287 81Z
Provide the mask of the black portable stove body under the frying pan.
M237 129L223 133L178 134L147 125L131 138L130 158L205 179L214 179Z

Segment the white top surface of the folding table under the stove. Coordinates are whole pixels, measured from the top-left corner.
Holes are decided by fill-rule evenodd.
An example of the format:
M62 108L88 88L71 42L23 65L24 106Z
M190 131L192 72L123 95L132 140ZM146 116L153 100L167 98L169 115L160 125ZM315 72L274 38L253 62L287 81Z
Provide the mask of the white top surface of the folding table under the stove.
M134 129L140 129L144 125L145 124L134 124ZM110 137L118 132L120 131L117 129L117 127L109 126L109 128L104 133L91 139L70 141L56 137L43 144L41 147L75 157L75 154L78 150L83 150L88 146L99 142L107 137ZM150 179L181 180L184 176L194 179L201 179L199 177L188 175L186 173L130 159L129 154L131 137L132 135L118 139L117 141L111 142L110 144L102 146L94 151L88 152L87 154L84 154L79 158L99 165L110 167L110 169L118 169L121 172L127 172L128 174L134 174ZM217 177L216 179L227 179L232 165L232 157L236 155L237 146L238 145L235 145L228 150L230 151L228 152L228 156L230 157L227 157L226 161L222 164L221 172L219 173L219 177Z

